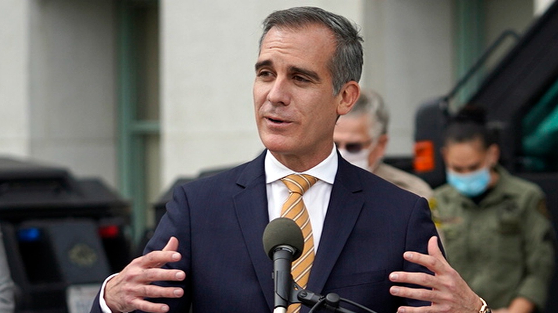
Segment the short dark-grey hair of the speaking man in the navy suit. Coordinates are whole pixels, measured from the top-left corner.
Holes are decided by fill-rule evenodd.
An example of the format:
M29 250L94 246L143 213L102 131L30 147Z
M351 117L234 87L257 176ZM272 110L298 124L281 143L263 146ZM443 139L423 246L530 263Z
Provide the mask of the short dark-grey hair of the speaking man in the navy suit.
M335 52L328 68L333 81L333 94L337 95L345 83L358 82L362 74L363 39L358 35L357 25L347 18L316 7L295 7L275 11L263 21L259 48L261 50L263 38L274 26L300 28L310 24L328 27L335 37Z

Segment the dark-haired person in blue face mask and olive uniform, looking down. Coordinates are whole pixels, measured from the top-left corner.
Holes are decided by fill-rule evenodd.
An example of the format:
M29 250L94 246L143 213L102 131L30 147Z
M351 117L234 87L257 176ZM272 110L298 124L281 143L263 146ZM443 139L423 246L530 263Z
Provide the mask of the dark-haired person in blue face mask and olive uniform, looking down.
M484 112L466 106L444 135L448 183L433 217L451 266L494 313L542 312L554 269L554 231L541 189L498 164Z

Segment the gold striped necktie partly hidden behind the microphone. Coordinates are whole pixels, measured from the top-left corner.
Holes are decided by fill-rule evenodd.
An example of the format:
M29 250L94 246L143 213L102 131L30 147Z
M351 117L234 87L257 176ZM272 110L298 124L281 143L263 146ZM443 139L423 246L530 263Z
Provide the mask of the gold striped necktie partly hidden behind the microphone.
M281 217L287 217L296 222L302 230L304 236L304 251L302 256L292 262L291 273L295 282L302 288L306 288L308 277L310 277L310 268L314 262L314 236L312 236L312 225L310 224L310 216L302 201L302 195L312 185L318 182L318 178L306 174L291 174L281 178L288 188L288 198L281 209ZM288 307L288 313L300 311L300 304L293 304Z

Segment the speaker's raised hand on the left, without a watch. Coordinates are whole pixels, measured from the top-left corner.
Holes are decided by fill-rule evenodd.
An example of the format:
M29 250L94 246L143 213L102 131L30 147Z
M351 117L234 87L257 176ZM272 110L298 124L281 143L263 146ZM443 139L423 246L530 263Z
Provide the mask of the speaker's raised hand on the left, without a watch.
M178 239L171 237L162 251L152 251L135 258L128 266L107 282L104 299L113 313L142 310L165 313L169 306L143 300L151 298L179 298L184 295L180 287L161 287L151 285L154 281L182 281L186 273L181 270L165 270L165 263L180 261L176 252Z

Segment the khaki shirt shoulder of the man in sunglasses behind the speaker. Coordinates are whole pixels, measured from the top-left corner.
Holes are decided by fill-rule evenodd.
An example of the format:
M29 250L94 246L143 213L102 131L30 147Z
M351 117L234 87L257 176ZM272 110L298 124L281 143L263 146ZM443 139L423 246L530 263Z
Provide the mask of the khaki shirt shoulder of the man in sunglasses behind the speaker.
M419 177L407 173L404 170L382 162L378 164L378 167L374 169L372 173L402 189L418 194L421 197L426 199L432 198L432 188L430 188L430 185Z

